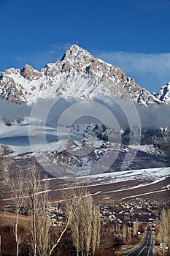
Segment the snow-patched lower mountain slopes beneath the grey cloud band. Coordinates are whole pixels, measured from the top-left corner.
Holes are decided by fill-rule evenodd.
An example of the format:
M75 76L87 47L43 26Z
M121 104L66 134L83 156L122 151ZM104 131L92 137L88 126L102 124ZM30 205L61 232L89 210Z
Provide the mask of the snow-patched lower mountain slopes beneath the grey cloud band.
M129 134L123 129L121 143L117 141L118 135L120 131L104 129L102 124L44 127L41 120L25 120L21 124L14 123L10 126L0 124L0 144L12 149L10 157L35 157L53 176L114 172L121 170L125 157L128 170L169 165L169 129L155 130L149 132L149 135L147 131L142 130L143 145L128 145ZM165 137L167 141L163 140Z

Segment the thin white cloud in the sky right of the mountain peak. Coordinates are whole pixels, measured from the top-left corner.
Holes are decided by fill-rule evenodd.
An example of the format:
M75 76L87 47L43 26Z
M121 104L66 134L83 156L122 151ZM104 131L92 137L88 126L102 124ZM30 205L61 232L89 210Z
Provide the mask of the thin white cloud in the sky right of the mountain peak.
M103 52L97 54L116 67L123 69L139 86L158 91L170 81L170 53Z

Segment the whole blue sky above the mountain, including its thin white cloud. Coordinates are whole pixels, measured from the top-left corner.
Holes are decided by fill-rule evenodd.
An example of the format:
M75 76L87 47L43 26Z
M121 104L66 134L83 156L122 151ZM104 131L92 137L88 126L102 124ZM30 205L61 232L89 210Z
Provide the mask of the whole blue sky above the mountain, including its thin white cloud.
M170 81L170 0L0 0L0 71L61 58L77 43L158 91Z

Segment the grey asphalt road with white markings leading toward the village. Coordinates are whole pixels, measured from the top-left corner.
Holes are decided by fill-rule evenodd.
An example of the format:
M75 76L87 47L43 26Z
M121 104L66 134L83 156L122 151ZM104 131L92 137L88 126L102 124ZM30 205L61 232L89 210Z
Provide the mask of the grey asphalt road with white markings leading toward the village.
M125 256L152 256L152 231L147 231L142 244L133 252L128 252Z

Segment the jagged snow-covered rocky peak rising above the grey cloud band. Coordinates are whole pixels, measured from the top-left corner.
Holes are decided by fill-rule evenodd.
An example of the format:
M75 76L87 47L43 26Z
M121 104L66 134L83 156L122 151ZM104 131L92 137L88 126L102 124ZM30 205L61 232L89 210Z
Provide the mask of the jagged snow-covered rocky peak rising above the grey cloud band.
M26 65L0 75L0 97L18 104L31 105L39 98L57 95L86 100L98 94L130 98L141 105L161 103L121 69L97 59L78 45L72 45L61 61L46 64L40 72Z

